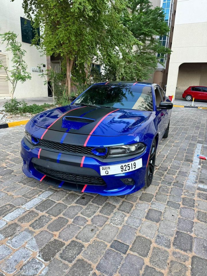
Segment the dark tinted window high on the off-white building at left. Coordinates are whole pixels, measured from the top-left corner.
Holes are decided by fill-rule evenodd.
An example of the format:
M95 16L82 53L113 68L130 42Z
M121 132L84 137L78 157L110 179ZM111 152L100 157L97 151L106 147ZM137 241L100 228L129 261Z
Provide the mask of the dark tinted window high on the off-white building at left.
M31 44L32 39L34 39L36 33L38 34L38 36L40 35L40 30L39 28L35 30L31 25L31 21L28 19L20 17L20 21L21 21L22 42ZM38 41L37 45L40 45L40 41Z

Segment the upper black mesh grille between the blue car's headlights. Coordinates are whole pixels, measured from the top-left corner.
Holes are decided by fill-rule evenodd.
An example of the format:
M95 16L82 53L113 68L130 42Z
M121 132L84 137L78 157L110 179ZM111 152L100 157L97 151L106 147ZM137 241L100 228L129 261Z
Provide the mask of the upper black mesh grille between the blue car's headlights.
M91 150L92 147L84 147L78 145L68 145L68 144L61 144L47 140L39 140L38 147L45 147L52 150L58 150L62 152L72 152L72 153L79 153L81 155L93 155Z

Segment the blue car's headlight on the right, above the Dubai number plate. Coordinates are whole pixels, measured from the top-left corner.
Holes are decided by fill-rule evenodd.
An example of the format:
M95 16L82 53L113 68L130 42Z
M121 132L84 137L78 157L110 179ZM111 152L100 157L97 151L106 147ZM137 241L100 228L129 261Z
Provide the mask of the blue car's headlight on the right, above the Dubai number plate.
M143 152L145 148L146 146L143 143L109 147L109 153L107 157L118 157L139 154Z

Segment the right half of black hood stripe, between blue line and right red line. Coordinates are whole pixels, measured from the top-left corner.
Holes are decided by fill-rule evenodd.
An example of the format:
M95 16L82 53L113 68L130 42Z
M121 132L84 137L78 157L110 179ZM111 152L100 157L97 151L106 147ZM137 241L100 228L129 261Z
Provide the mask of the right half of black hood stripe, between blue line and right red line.
M96 110L93 110L90 112L90 116L86 115L87 118L95 119L94 122L91 122L84 127L81 127L81 129L70 129L69 133L81 133L85 135L89 135L89 133L93 130L93 128L97 125L97 123L106 116L109 112L115 111L114 108L98 108ZM84 117L83 117L84 118Z

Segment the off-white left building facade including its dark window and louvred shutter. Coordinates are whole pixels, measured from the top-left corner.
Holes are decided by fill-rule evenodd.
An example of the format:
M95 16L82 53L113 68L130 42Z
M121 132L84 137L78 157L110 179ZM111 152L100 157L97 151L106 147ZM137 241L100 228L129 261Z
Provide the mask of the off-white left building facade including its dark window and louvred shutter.
M46 55L42 56L34 45L31 46L31 39L34 32L30 20L25 20L22 0L15 0L14 2L0 0L0 7L0 33L13 31L18 34L17 39L22 43L22 49L26 50L24 60L28 65L27 71L30 72L32 76L31 80L27 80L24 83L18 82L14 97L46 97L48 95L47 85L44 85L43 79L39 76L37 66L41 64L41 68L44 71L47 68L47 59ZM5 48L5 43L1 44L0 40L0 60L11 70L12 54L7 52ZM0 98L9 98L11 96L10 83L6 80L5 76L5 70L2 68L0 70Z

